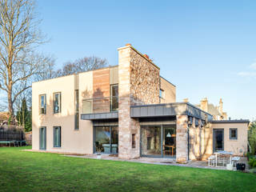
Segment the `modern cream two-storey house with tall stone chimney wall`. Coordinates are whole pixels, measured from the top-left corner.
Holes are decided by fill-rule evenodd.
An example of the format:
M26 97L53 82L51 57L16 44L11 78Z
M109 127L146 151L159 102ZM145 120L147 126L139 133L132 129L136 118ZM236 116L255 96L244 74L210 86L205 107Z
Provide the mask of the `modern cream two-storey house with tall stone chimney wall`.
M214 121L176 102L176 86L130 44L118 48L118 66L34 82L32 103L33 150L177 162L247 151L247 120Z

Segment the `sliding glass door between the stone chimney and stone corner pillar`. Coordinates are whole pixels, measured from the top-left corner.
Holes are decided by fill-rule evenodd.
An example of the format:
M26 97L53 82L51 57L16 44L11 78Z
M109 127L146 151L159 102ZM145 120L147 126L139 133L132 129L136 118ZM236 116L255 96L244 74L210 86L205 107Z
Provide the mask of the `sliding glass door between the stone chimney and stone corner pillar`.
M174 158L176 126L141 126L141 155Z

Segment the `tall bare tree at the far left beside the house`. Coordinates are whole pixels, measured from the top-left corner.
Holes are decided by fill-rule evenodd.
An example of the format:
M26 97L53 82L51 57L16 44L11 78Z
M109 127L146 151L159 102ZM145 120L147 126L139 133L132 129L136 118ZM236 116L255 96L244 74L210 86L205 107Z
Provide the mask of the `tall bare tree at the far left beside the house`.
M0 0L0 89L6 91L12 120L15 100L30 88L28 79L42 63L42 57L34 53L35 46L44 42L39 23L34 1Z

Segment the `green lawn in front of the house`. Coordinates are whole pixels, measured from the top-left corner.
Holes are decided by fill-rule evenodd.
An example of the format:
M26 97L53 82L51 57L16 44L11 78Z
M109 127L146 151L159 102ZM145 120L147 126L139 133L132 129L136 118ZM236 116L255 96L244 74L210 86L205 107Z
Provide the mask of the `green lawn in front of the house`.
M29 147L22 147L28 149ZM256 174L0 147L0 191L255 191Z

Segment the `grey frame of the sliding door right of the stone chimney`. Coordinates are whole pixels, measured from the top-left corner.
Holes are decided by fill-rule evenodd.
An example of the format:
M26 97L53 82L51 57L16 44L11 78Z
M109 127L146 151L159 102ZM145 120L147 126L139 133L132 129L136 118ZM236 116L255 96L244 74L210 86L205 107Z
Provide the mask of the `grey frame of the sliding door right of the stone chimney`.
M161 155L148 155L148 154L142 154L142 128L143 127L160 127L160 138L161 138ZM140 145L139 145L139 153L141 157L147 157L147 158L176 158L176 153L173 156L166 156L163 154L163 130L166 126L174 126L175 132L177 130L176 124L166 124L166 125L141 125L140 126ZM177 133L176 133L177 134ZM175 139L175 146L176 146L176 139Z

